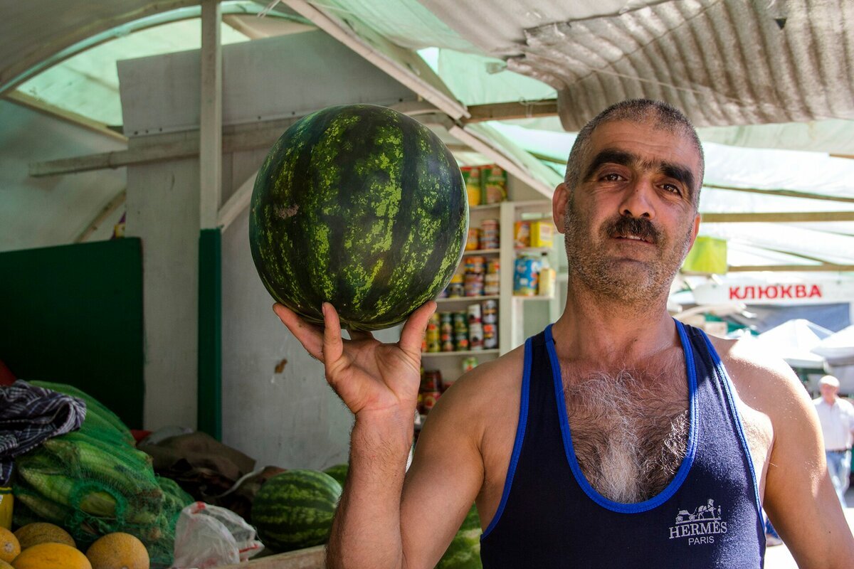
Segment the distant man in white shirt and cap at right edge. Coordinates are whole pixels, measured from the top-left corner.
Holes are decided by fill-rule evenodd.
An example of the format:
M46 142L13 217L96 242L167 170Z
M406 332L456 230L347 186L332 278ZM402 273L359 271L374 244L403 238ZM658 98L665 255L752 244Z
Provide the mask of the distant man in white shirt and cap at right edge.
M854 405L840 399L839 380L825 375L818 380L822 397L813 399L822 424L824 455L839 503L845 508L845 491L851 482L851 433L854 432Z

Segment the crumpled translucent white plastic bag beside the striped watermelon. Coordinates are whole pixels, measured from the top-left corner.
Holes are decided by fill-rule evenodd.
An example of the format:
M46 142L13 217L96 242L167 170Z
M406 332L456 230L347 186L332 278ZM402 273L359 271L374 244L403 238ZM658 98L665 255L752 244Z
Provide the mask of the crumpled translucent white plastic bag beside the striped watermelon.
M210 569L248 560L264 545L255 539L255 528L239 515L194 502L181 510L175 525L173 569Z

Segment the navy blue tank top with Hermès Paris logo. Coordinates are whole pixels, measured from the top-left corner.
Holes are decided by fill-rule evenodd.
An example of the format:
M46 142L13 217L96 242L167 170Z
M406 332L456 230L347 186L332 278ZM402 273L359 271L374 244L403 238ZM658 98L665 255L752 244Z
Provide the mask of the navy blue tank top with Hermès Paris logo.
M572 448L551 326L525 343L522 399L504 492L481 537L484 569L763 566L757 480L733 386L705 334L676 322L688 380L686 456L645 502L613 502Z

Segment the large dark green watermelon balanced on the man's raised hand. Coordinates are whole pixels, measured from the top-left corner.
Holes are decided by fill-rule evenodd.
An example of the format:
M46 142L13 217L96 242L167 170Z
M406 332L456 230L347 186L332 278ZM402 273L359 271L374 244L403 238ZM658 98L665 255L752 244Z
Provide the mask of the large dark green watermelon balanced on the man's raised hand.
M462 257L468 201L453 155L386 107L297 121L255 178L249 244L272 297L309 322L329 301L350 329L403 322Z

